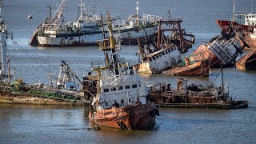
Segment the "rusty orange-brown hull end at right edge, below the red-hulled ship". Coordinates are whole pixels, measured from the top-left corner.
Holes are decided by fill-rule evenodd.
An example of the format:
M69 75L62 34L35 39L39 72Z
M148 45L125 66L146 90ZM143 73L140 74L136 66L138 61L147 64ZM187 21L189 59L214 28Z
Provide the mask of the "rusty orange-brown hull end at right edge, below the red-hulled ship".
M256 70L256 50L240 58L235 67L239 70Z

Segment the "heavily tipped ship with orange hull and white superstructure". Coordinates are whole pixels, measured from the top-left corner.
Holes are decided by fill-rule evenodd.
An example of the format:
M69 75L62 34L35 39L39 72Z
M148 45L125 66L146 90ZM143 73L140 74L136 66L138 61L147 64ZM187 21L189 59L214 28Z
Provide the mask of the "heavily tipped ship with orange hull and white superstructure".
M232 38L226 38L222 34L212 38L206 45L201 45L194 51L194 60L202 61L210 59L210 67L234 66L235 58L242 54L242 50L248 46L237 33Z

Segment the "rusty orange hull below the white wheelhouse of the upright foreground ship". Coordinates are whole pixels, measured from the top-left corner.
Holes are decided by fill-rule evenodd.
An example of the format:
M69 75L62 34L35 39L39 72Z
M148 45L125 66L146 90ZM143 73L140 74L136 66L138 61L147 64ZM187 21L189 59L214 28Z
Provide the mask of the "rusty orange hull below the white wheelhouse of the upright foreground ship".
M98 110L90 118L96 126L124 130L143 130L154 126L158 109L151 104Z

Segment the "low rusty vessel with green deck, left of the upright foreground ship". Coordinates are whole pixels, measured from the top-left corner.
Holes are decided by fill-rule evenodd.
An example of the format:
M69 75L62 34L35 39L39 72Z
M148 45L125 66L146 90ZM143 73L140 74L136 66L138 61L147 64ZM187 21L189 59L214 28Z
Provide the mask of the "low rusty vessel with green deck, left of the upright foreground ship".
M86 105L89 101L84 97L84 91L79 89L74 78L78 78L67 62L62 61L58 77L49 75L50 84L38 82L27 84L22 78L13 82L0 82L0 103L20 103L37 105ZM83 82L80 81L81 86ZM56 84L54 86L54 83Z

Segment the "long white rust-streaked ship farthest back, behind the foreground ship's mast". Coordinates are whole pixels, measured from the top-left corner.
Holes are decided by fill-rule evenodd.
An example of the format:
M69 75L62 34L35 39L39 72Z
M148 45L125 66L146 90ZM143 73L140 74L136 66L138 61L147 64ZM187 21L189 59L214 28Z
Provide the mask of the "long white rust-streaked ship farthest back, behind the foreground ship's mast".
M102 33L108 33L105 30L102 16L84 14L82 11L85 6L80 6L80 17L77 22L59 22L62 18L62 13L66 4L63 0L61 5L56 10L52 18L46 18L46 22L34 31L30 39L32 46L96 46L97 40L102 39ZM146 36L152 37L158 29L156 22L159 17L154 15L144 14L141 18L138 14L131 15L127 21L122 21L122 24L115 24L113 28L114 34L119 34L122 39L122 44L136 44L137 38ZM61 24L60 24L61 23ZM108 38L106 34L106 38Z

